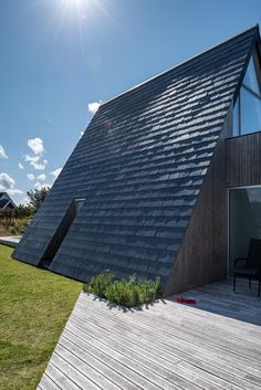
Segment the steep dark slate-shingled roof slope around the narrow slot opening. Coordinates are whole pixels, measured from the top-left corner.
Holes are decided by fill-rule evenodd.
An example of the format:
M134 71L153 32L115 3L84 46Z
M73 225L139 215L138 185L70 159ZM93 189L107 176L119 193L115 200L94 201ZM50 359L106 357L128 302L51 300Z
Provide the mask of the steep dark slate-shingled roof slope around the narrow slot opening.
M166 281L257 34L250 29L103 104L14 257L39 264L80 197L86 201L52 271Z

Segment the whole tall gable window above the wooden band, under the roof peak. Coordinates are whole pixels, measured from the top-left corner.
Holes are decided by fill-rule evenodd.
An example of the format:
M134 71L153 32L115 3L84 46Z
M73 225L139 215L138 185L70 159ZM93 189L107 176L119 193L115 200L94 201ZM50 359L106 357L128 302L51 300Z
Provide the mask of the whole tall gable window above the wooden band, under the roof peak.
M246 76L233 108L233 136L261 131L260 66L258 54L250 59Z

